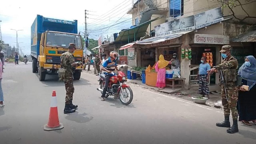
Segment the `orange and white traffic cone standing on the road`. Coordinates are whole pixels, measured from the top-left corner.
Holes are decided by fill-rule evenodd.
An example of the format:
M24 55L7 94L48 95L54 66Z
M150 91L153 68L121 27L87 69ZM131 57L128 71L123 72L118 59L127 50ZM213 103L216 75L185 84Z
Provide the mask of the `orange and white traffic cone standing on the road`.
M51 108L48 124L44 125L44 130L61 130L64 128L63 124L59 122L57 98L55 90L52 92Z

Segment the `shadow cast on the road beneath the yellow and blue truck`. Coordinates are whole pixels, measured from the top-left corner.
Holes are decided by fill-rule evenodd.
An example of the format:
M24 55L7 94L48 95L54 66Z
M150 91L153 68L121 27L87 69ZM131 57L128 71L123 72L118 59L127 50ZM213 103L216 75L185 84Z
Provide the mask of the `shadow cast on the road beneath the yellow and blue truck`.
M38 74L36 74L38 77ZM38 80L39 81L39 80ZM45 80L42 82L42 84L45 84L47 86L64 86L63 81L59 81L58 76L55 75L46 75ZM88 86L91 85L88 80L84 78L80 78L80 80L74 80L74 86Z

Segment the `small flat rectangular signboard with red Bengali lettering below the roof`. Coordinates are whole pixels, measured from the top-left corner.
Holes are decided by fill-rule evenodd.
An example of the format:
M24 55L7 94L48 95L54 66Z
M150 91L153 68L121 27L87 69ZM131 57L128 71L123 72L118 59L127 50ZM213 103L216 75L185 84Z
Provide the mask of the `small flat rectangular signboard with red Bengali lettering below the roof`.
M195 34L195 44L229 44L229 36L214 34Z

